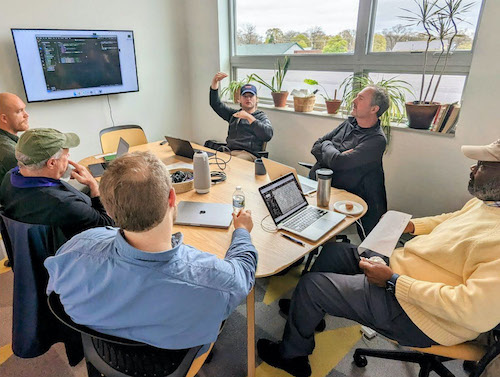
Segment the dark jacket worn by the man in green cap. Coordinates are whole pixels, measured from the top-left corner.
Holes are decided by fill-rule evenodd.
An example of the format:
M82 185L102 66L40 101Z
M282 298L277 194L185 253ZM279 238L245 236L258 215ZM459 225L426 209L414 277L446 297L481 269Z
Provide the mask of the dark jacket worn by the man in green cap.
M89 228L114 225L98 197L89 198L64 181L47 187L15 187L9 171L0 186L5 215L28 224L59 227L67 239ZM54 250L55 251L55 250Z

